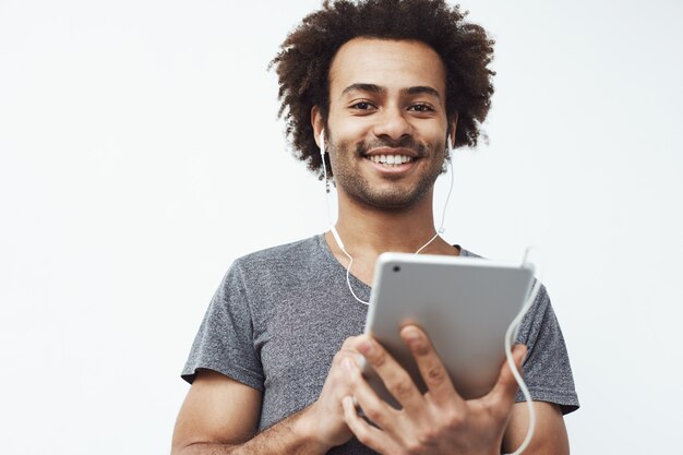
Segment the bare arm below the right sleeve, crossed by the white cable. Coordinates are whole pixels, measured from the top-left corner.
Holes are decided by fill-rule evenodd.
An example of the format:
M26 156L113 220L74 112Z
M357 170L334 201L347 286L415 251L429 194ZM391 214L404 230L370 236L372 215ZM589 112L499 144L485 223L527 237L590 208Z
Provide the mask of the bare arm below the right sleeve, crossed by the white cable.
M536 410L536 429L531 443L524 453L568 455L570 442L560 407L551 403L535 402L534 409ZM504 453L516 451L522 445L522 441L527 435L528 424L527 404L515 404L503 438Z

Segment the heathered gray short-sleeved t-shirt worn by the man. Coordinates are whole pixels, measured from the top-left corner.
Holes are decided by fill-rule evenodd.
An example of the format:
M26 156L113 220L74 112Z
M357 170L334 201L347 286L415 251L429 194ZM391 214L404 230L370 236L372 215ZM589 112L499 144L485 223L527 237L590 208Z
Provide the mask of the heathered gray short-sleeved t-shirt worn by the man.
M460 255L474 254L460 250ZM371 288L350 277L355 292ZM263 392L259 430L311 405L344 340L363 332L368 307L354 299L346 268L319 235L240 258L208 307L182 378L223 373ZM527 345L524 378L535 400L578 408L562 332L542 287L517 340ZM518 394L517 400L524 400ZM373 454L357 440L331 454Z

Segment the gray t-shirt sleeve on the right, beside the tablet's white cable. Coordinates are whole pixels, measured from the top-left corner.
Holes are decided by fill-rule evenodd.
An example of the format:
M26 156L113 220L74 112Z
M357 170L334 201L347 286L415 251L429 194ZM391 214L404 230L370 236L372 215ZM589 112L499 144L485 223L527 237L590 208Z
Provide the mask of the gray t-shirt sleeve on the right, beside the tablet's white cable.
M534 400L560 405L562 414L578 409L566 345L544 286L523 320L517 343L528 348L524 381ZM517 393L516 402L524 400L524 395Z

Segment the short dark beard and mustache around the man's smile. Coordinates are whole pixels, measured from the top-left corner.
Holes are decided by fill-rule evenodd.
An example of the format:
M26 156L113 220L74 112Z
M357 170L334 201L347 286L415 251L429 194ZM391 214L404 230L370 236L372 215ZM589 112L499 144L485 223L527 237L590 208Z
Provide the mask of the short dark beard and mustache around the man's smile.
M405 181L404 176L384 176L382 184L373 184L362 172L362 160L366 154L376 147L411 149L418 157L417 181ZM445 170L445 144L419 144L412 137L399 141L378 140L372 143L363 141L335 143L329 137L332 168L335 184L361 205L379 209L405 211L422 201L434 187L436 178Z

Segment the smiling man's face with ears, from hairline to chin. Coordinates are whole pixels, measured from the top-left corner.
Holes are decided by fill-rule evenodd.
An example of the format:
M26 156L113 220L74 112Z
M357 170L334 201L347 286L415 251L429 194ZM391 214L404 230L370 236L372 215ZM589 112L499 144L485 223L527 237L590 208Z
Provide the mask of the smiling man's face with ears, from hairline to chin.
M324 124L313 107L316 137ZM431 204L447 129L445 72L433 49L369 38L342 46L329 69L326 136L342 205Z

